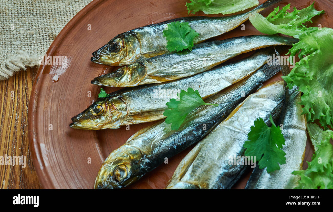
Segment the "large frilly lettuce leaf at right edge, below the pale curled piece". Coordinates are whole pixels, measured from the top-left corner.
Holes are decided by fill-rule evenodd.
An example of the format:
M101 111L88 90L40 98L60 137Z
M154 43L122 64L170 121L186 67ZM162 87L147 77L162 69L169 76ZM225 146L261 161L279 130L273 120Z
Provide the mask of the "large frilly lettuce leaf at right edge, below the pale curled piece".
M303 92L300 104L308 122L319 120L327 129L333 125L333 29L306 32L299 39L289 52L291 56L300 52L301 60L282 79L289 88L296 85Z

